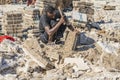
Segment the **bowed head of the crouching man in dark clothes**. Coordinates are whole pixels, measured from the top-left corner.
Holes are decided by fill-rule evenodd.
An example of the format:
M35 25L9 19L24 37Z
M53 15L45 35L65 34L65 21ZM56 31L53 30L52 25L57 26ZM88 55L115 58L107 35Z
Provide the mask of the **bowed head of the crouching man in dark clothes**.
M55 17L55 8L48 5L45 7L45 13L47 14L48 17L54 18Z

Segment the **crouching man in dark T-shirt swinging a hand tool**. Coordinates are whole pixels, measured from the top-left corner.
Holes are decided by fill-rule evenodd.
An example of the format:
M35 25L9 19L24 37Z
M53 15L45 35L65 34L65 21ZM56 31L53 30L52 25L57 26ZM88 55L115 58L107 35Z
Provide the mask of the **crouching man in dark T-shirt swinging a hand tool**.
M39 22L40 40L46 44L51 42L55 42L56 44L61 43L60 38L63 37L63 33L67 27L64 23L65 17L60 16L59 11L56 11L52 6L46 6ZM72 26L68 28L74 31Z

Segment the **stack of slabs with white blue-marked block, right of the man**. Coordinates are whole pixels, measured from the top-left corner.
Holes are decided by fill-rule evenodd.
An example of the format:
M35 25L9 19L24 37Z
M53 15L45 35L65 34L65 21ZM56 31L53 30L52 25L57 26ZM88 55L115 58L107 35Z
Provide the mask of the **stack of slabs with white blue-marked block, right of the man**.
M73 25L80 27L81 22L93 19L94 9L92 0L73 0Z

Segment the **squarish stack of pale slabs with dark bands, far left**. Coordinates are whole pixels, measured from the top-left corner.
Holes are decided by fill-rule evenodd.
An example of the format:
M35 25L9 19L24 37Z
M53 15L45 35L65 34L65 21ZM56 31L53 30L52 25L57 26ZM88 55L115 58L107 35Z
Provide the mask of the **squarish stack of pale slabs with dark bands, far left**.
M2 31L6 35L15 37L22 36L23 15L21 12L7 12L3 16Z

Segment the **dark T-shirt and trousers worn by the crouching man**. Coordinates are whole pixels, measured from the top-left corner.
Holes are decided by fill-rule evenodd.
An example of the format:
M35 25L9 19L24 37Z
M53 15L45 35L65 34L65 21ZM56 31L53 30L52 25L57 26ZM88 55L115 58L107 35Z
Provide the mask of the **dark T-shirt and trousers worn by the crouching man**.
M61 16L58 11L55 11L54 19L50 19L46 14L43 14L41 16L40 22L39 22L39 28L40 28L40 40L43 43L48 43L48 34L45 31L45 27L50 27L51 29L57 24L58 19L60 19L60 17ZM65 29L66 29L66 25L62 24L57 30L57 32L53 35L53 42L63 37L63 33Z

